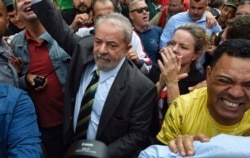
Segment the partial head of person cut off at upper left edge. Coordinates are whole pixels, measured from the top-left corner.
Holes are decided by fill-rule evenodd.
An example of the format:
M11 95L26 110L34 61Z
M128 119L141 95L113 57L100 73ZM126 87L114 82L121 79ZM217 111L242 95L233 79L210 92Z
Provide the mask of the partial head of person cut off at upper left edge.
M7 10L3 0L0 0L0 40L8 27Z

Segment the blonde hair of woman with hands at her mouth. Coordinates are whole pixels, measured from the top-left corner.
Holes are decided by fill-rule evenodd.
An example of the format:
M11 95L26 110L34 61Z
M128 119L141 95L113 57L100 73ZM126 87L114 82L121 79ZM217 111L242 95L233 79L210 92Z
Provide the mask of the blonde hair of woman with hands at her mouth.
M176 29L189 32L195 40L195 52L205 52L209 45L209 38L206 30L197 24L184 24Z

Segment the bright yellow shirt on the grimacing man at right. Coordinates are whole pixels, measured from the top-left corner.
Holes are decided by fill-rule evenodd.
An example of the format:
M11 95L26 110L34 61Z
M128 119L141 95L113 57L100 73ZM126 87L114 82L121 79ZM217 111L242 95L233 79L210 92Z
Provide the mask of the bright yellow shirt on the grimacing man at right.
M250 131L250 112L245 112L241 122L224 126L217 123L207 108L207 88L181 95L169 107L157 139L164 144L178 135L204 134L209 138L220 133L242 135Z

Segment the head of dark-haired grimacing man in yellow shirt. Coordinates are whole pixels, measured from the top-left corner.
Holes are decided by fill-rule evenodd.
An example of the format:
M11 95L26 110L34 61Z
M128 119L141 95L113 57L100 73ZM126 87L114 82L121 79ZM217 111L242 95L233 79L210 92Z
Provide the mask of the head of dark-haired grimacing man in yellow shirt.
M230 39L219 45L207 67L207 107L220 124L239 122L250 108L250 41Z

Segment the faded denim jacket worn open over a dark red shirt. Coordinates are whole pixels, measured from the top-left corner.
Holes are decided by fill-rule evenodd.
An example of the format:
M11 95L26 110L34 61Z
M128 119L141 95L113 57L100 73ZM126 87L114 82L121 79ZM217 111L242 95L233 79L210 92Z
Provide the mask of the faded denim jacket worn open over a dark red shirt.
M59 79L61 86L64 89L68 65L71 57L57 44L57 42L50 36L49 33L43 33L39 38L48 42L49 55L52 61L53 67L56 70L56 75ZM28 85L25 81L25 76L29 69L30 55L28 51L27 41L25 40L25 31L21 31L14 36L11 41L13 46L13 52L16 57L21 57L24 61L24 68L19 74L19 86L22 89L28 89Z

